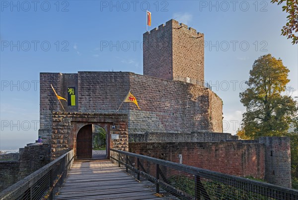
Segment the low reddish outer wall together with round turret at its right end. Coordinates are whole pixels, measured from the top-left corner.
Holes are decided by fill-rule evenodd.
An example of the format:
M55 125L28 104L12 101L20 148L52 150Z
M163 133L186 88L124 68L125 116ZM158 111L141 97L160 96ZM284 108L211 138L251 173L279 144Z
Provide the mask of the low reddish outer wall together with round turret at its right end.
M194 133L197 140L210 138ZM291 188L291 146L289 137L260 137L259 140L192 142L187 137L168 133L144 134L149 142L130 142L129 151L158 159L236 176L253 176L268 183ZM153 138L160 135L160 138ZM187 134L186 134L187 136ZM191 136L190 136L191 137ZM225 137L229 137L228 134ZM234 137L234 136L232 136ZM235 138L231 138L235 139ZM167 140L166 142L164 140ZM185 140L188 142L169 142Z

